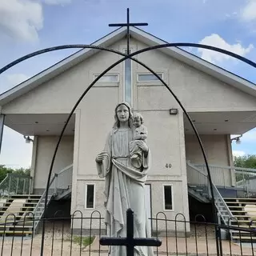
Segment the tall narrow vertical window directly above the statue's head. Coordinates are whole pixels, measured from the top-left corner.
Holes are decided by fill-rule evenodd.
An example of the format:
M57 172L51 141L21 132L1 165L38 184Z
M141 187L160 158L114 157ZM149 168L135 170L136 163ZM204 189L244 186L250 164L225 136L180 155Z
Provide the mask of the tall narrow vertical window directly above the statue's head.
M131 53L131 50L130 50L130 53ZM127 50L125 50L125 54L127 54ZM131 94L131 90L132 90L132 74L131 74L131 71L132 71L132 68L131 68L131 60L130 58L127 58L125 60L125 63L124 63L124 84L125 84L125 88L124 88L124 91L125 91L125 102L128 102L130 104L130 106L132 105L132 102L131 102L131 98L132 98L132 94Z

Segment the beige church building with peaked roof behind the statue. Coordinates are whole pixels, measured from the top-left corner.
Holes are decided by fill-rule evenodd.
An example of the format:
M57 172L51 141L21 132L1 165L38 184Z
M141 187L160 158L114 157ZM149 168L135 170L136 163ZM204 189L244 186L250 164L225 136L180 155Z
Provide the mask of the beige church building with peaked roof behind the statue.
M132 52L162 43L166 42L130 27ZM93 45L125 52L126 27ZM26 194L39 195L39 203L66 118L90 83L120 58L106 51L79 50L0 95L1 127L4 124L21 136L34 136L30 191ZM234 198L240 197L246 183L239 186L236 178L243 170L233 167L230 134L244 134L256 126L256 86L177 47L134 58L157 72L190 114L202 138L214 186L221 192L216 190L216 200L224 197L224 190ZM150 216L163 212L166 218L174 219L182 213L189 220L190 197L209 202L202 152L173 96L153 74L130 59L96 82L75 110L54 162L51 200L70 200L70 214L81 210L84 216L90 216L98 210L104 215L104 180L98 177L95 157L114 124L114 108L122 101L130 102L132 109L142 114L148 129L152 167L146 197ZM38 209L33 208L42 214ZM74 229L79 225L74 223Z

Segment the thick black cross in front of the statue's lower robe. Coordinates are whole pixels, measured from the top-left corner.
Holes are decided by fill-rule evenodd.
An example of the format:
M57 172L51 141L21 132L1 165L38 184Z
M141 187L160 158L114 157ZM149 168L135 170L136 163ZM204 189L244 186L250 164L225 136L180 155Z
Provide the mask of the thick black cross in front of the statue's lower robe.
M134 212L126 211L126 238L100 238L102 246L126 246L126 256L134 256L134 246L161 246L155 238L134 238Z

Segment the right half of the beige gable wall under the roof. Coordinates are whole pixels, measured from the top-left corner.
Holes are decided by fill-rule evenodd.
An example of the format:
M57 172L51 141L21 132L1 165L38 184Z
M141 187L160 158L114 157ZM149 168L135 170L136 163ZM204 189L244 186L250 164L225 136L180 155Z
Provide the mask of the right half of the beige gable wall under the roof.
M138 43L138 50L144 47L146 45ZM157 50L138 55L138 60L150 66L151 69L164 73L165 82L187 110L231 111L246 107L255 110L256 101L253 96ZM134 66L136 66L136 72L148 72L139 64ZM144 98L143 101L138 102L138 109L169 109L170 106L177 106L174 98L164 87L137 86L137 90L138 97Z

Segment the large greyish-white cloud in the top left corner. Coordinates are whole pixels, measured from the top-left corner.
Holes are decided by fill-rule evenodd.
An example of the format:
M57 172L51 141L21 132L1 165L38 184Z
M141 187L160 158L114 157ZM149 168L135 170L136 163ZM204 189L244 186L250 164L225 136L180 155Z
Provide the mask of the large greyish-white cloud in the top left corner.
M0 0L0 36L34 41L43 26L42 4L33 0Z

